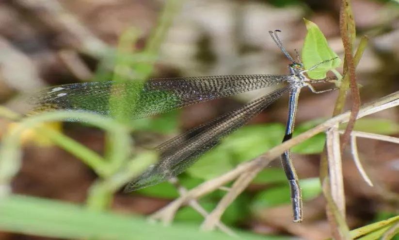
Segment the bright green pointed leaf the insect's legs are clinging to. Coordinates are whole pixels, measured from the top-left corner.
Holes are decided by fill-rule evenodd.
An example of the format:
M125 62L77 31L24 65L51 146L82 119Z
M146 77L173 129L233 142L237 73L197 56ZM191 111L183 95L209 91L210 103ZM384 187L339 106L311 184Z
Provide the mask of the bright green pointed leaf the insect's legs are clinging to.
M341 65L341 59L337 58L338 55L328 46L327 39L321 33L319 27L309 20L304 18L303 20L305 21L307 29L302 48L302 61L305 69L310 69L323 61L335 58L307 72L307 75L311 79L323 79L326 77L327 71Z

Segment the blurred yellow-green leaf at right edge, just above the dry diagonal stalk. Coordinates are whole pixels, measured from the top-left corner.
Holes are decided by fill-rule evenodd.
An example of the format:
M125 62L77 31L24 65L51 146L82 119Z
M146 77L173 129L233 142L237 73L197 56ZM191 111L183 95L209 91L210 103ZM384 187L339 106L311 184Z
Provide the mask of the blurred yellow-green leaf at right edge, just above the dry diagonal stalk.
M339 129L346 129L347 124L341 124ZM388 119L361 118L356 120L353 131L393 135L399 133L399 124Z

